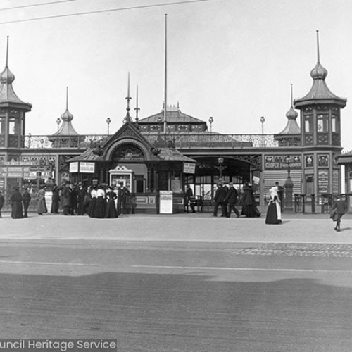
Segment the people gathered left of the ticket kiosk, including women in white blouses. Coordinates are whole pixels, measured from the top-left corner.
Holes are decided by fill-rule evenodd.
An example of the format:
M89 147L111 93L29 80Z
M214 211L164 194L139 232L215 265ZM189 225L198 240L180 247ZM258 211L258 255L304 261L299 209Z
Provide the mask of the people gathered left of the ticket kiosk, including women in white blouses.
M89 215L90 218L118 218L127 213L127 198L130 191L123 182L110 187L106 184L84 187L82 182L73 184L65 182L62 187L56 184L51 189L50 212L58 214L62 208L63 215ZM28 217L28 208L32 194L28 187L13 187L9 202L11 203L11 218ZM0 191L0 218L5 199ZM37 193L37 213L48 213L46 206L46 186L40 187Z

